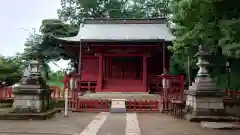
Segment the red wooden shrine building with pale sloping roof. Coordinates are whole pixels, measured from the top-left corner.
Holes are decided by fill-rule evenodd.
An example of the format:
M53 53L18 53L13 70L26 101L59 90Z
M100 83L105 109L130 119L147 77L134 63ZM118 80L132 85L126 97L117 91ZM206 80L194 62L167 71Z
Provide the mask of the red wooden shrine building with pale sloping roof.
M77 90L156 92L173 38L165 19L87 19L78 35L58 39L78 59Z

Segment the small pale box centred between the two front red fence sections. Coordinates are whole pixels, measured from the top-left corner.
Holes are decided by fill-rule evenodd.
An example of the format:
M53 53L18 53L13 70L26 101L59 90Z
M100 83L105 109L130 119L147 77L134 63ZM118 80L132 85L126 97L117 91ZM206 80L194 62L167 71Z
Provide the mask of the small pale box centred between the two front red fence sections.
M126 112L126 99L112 99L111 113L125 113Z

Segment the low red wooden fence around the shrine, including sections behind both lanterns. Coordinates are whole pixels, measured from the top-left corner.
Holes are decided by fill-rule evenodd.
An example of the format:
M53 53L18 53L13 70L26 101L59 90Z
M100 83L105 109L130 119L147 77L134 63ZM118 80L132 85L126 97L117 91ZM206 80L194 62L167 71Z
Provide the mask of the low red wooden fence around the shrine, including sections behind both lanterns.
M171 102L184 101L183 98L183 77L182 76L157 76L156 78L162 81L163 78L169 80L169 86L165 90L161 91L163 98L155 101L149 100L127 100L126 109L128 112L168 112L171 110ZM181 83L182 82L182 83ZM51 97L55 100L64 100L65 90L68 89L69 108L73 111L109 111L110 100L105 99L82 99L79 98L81 92L70 90L69 85L65 85L64 89L61 90L58 86L51 86L52 90ZM8 100L14 98L11 87L4 87L0 89L0 100ZM225 96L223 97L225 103L240 101L240 90L225 90Z

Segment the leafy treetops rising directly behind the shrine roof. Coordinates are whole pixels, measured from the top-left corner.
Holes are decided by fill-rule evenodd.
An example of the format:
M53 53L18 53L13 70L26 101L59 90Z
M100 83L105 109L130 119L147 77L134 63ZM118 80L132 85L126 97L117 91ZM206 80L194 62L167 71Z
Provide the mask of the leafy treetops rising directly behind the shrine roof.
M167 17L170 0L61 0L59 18L79 25L84 18Z

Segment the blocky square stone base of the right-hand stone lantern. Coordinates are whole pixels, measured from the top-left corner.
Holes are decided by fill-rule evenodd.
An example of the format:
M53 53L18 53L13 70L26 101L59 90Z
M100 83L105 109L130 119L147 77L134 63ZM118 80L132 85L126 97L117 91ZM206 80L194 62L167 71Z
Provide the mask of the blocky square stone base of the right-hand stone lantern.
M216 93L203 94L192 91L188 91L186 94L186 119L190 121L201 121L207 119L214 120L227 116L224 110L222 96L216 96Z

